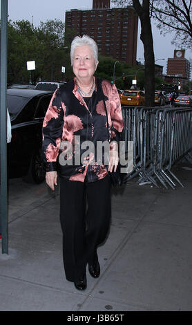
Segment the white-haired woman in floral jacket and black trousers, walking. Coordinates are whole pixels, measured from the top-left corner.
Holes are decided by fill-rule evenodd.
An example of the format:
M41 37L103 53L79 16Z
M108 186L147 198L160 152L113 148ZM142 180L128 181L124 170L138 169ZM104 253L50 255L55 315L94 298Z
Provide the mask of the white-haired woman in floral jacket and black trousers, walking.
M92 277L100 274L97 247L106 238L111 219L108 171L117 167L123 128L115 85L94 76L97 57L92 38L73 39L70 59L75 77L55 91L43 124L46 183L52 190L59 173L66 279L78 290L86 289L87 264ZM101 149L106 142L110 142L107 161L107 149Z

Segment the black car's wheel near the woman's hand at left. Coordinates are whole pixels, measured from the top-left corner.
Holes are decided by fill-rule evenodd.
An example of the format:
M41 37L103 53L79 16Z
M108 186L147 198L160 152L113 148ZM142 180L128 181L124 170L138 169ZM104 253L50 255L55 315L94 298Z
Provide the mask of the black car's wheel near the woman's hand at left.
M34 152L30 160L28 174L23 178L27 183L40 184L46 177L46 167L42 158L41 149Z

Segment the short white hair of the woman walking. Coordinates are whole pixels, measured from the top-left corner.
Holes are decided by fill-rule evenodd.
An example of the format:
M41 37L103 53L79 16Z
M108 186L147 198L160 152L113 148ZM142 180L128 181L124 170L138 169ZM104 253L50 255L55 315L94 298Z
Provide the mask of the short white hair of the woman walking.
M95 65L97 64L98 61L98 48L97 48L97 44L94 41L93 38L89 37L88 35L83 35L81 36L76 36L75 39L73 39L71 46L70 46L70 62L71 65L73 65L73 55L74 55L74 51L75 48L77 48L77 46L90 46L90 49L93 50L93 57L95 59Z

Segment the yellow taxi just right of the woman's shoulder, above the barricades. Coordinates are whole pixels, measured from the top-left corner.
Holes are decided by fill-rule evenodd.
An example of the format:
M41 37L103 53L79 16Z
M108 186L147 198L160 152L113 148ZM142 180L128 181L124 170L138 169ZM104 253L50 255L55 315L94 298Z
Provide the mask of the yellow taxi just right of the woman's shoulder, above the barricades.
M143 106L144 105L144 91L128 90L123 91L121 95L122 105Z

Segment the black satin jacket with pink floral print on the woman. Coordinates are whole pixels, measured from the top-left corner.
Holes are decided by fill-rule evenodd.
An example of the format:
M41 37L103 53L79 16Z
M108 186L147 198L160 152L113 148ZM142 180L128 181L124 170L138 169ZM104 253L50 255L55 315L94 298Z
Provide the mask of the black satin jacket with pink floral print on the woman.
M102 160L96 154L98 143L109 139L113 147L123 129L116 86L107 80L95 80L88 105L77 91L75 79L61 85L52 95L44 118L42 150L46 170L59 171L61 177L69 180L84 182L86 175L89 182L104 178L108 167L104 148ZM91 149L87 151L89 145Z

